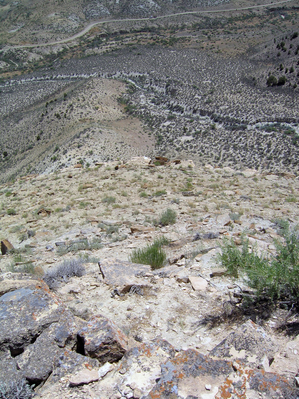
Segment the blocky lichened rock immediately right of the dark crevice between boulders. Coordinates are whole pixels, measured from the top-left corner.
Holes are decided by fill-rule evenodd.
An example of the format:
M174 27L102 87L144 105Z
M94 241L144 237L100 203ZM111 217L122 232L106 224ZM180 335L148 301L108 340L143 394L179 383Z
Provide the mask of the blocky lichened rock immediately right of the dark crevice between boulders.
M79 332L82 352L101 364L120 360L128 349L128 337L110 319L93 316Z

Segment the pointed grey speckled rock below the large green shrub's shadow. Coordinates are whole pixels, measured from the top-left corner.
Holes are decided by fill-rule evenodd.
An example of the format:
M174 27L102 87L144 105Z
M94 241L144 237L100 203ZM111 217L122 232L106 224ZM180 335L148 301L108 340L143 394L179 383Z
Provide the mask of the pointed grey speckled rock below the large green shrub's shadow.
M278 348L262 327L249 320L212 349L210 355L232 361L239 359L256 367L263 363L265 356L273 359Z

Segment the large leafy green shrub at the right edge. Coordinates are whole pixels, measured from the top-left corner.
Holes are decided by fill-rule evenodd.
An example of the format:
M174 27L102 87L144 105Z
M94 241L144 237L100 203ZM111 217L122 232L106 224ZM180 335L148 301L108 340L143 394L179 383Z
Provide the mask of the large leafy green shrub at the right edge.
M287 307L299 308L299 237L290 230L288 222L281 223L283 243L275 240L277 255L266 258L257 248L249 251L248 239L243 237L239 250L233 240L224 240L221 264L233 277L243 277L254 289L258 302L267 300Z

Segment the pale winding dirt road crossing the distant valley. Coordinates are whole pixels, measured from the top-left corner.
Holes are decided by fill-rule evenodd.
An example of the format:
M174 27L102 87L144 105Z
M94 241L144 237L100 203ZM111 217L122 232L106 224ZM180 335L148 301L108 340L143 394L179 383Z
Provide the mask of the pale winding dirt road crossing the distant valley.
M15 45L15 46L9 46L10 49L17 49L17 48L32 48L32 47L44 47L44 46L53 46L56 44L63 44L67 43L69 41L72 41L74 39L77 39L78 37L83 36L85 33L87 33L90 29L92 29L96 25L104 24L104 23L111 23L111 22L135 22L135 21L148 21L148 20L155 20L155 19L162 19L162 18L168 18L172 16L179 16L179 15L188 15L188 14L212 14L216 12L227 12L227 11L241 11L245 9L252 9L252 8L260 8L260 7L267 7L267 6L272 6L276 4L283 4L287 3L290 1L294 0L282 0L282 1L275 1L267 4L258 4L258 5L251 5L248 7L240 7L240 8L227 8L227 9L216 9L216 10L207 10L207 11L185 11L185 12L178 12L176 14L168 14L168 15L160 15L160 16L155 16L155 17L144 17L144 18L127 18L127 19L110 19L110 20L101 20L101 21L94 21L89 23L83 30L80 32L74 34L73 36L70 36L66 39L62 40L57 40L57 41L52 41L49 43L38 43L38 44L21 44L21 45ZM8 47L8 46L7 46ZM6 48L7 48L6 47Z

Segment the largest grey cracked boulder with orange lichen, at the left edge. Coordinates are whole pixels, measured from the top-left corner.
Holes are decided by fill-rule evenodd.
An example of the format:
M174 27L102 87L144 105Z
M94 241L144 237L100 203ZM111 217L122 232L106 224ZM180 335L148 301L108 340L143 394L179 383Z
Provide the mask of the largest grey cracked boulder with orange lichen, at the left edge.
M0 381L40 384L53 372L54 359L69 346L75 348L82 323L48 287L28 280L0 297Z

